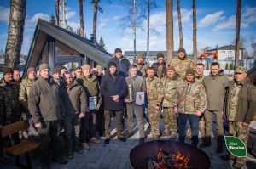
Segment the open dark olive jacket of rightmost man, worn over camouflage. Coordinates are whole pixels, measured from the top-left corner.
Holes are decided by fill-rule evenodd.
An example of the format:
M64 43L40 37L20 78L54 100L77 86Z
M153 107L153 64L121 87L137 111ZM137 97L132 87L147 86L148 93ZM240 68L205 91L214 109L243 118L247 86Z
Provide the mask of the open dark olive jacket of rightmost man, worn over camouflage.
M253 121L253 115L256 112L256 87L249 78L245 78L240 82L242 87L238 96L236 107L236 116L234 121L246 122L250 124ZM229 91L225 100L225 115L230 115L230 93L235 81L229 83Z

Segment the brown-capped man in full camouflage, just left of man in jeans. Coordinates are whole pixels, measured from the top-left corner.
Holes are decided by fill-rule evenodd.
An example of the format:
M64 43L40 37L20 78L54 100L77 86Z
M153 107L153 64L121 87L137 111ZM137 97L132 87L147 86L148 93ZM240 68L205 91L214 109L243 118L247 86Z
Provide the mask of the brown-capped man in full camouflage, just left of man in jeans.
M173 66L167 68L167 76L162 79L164 85L165 97L163 100L163 118L165 122L163 136L177 137L177 113L174 112L174 107L177 107L177 85L181 82L177 78Z

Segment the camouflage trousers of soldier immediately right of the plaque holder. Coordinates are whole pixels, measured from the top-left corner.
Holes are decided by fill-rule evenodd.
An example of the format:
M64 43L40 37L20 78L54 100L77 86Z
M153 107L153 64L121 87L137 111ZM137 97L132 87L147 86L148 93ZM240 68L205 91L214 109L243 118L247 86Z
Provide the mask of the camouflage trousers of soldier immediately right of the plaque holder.
M151 126L151 133L153 138L159 137L160 136L160 110L156 110L154 106L150 106L150 104L148 104L148 121Z

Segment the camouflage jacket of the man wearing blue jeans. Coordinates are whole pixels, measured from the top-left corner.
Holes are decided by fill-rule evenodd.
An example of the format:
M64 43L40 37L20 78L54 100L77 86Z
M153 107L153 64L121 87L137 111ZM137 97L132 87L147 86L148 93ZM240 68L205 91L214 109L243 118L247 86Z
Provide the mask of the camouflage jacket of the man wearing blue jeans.
M197 110L202 113L207 108L207 93L200 82L181 82L177 87L177 109L183 114L195 114Z

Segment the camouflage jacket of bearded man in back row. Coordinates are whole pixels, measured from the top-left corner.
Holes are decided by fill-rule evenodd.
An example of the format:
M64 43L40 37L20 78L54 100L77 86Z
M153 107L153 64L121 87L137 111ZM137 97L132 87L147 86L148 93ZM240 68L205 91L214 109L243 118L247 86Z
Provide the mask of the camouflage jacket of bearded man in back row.
M191 59L179 59L179 58L174 58L171 61L171 65L174 66L176 73L182 78L185 79L186 75L186 70L189 68L193 69L195 68L195 65Z

